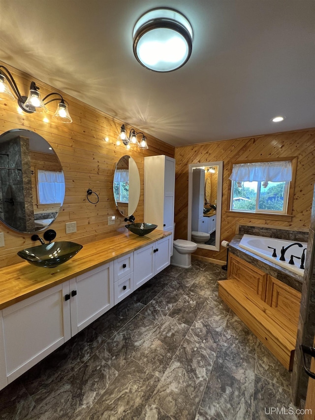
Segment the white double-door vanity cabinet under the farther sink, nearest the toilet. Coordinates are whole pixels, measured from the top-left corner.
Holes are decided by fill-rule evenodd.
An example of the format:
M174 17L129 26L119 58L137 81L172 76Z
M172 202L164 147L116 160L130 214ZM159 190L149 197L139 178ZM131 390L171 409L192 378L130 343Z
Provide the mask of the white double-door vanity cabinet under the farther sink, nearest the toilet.
M134 251L134 290L170 264L172 236Z

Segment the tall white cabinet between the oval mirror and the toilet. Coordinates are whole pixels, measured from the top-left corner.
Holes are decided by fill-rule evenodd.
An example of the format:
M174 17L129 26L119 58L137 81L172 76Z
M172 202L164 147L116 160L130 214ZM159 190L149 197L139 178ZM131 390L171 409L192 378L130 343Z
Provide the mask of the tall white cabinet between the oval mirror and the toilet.
M174 236L175 159L144 158L144 222L158 225ZM172 242L173 244L173 242ZM173 246L171 247L173 248Z

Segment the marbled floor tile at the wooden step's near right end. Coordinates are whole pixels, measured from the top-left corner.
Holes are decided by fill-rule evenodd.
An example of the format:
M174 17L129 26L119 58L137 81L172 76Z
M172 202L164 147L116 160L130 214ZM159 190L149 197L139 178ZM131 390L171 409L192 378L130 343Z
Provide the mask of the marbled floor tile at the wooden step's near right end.
M280 387L286 389L291 388L290 372L285 369L280 361L260 341L258 341L257 345L255 372L257 375L274 382Z

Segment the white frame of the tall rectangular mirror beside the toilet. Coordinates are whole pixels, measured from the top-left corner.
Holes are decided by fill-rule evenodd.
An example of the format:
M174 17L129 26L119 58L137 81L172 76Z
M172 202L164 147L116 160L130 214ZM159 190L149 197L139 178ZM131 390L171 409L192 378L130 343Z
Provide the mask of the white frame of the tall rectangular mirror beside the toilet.
M222 183L223 183L223 161L191 163L188 172L188 225L187 239L191 241L191 208L192 208L192 169L203 168L204 166L218 166L218 186L217 186L217 209L216 209L216 245L206 245L197 243L198 248L210 251L220 251L221 245L221 212L222 212ZM192 241L193 242L193 241Z

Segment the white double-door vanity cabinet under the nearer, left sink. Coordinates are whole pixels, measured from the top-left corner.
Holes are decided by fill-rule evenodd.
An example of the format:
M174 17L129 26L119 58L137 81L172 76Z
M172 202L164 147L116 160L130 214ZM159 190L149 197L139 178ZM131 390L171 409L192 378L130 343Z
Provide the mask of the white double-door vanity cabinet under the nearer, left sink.
M111 261L0 311L0 385L14 381L114 305L113 265Z

